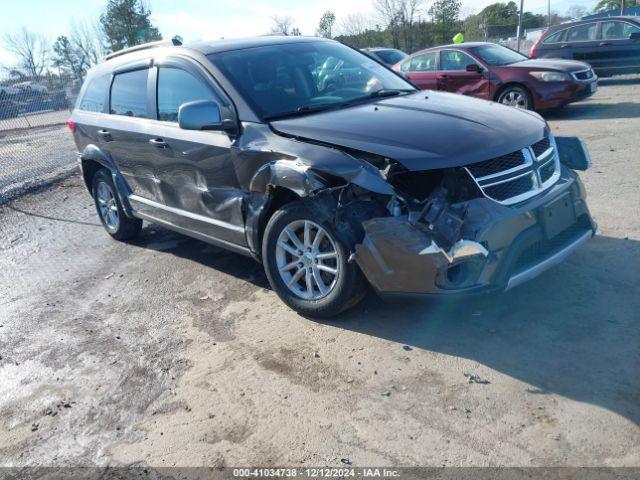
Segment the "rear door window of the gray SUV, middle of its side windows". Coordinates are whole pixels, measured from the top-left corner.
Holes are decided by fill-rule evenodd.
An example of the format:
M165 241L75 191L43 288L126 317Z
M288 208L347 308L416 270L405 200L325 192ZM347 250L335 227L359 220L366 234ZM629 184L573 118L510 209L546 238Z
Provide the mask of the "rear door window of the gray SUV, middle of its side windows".
M115 76L111 86L111 108L109 109L111 113L127 117L149 118L148 73L148 70L135 70Z

